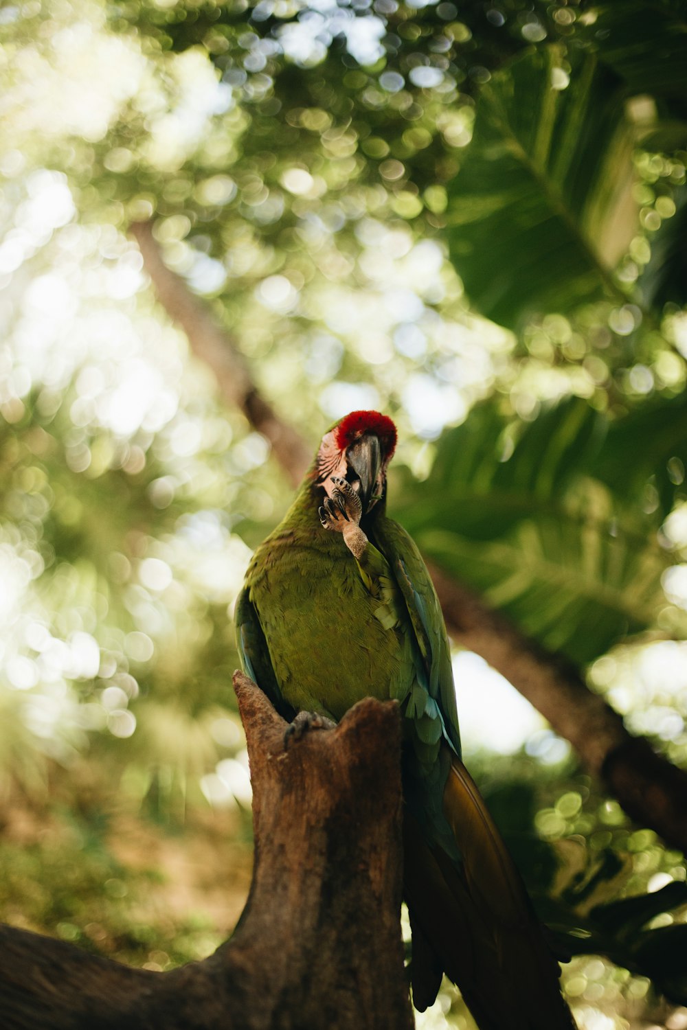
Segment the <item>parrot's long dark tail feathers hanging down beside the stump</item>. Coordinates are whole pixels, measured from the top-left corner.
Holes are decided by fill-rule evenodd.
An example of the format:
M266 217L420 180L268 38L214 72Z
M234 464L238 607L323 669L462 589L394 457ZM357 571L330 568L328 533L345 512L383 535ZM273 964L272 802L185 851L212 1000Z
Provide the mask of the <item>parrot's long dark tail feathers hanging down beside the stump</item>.
M559 967L520 876L462 762L451 756L444 814L462 862L430 848L413 817L405 826L405 893L420 955L413 999L436 997L436 970L460 989L480 1030L575 1030ZM434 956L432 953L434 952ZM433 993L434 992L434 993Z

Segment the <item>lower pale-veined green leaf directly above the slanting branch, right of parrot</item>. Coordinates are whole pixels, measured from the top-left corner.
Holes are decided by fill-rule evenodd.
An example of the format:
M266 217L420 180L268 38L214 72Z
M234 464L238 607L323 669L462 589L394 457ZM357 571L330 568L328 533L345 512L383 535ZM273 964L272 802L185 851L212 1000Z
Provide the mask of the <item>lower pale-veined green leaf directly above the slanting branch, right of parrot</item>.
M613 536L612 521L594 517L592 505L587 517L541 515L481 546L446 530L415 539L546 648L584 663L654 624L669 564L655 542Z

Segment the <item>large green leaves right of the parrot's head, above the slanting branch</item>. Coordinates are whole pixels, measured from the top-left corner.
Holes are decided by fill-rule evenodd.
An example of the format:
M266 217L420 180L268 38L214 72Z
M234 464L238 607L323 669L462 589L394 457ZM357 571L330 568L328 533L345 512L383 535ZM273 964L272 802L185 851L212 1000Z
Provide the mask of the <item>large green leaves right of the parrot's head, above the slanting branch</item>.
M655 625L665 607L661 576L672 558L656 530L674 495L667 485L676 488L668 476L678 465L666 466L665 455L682 454L686 417L675 402L610 423L570 399L534 422L509 424L483 405L444 436L401 518L426 557L528 634L591 661ZM662 509L645 503L661 469Z

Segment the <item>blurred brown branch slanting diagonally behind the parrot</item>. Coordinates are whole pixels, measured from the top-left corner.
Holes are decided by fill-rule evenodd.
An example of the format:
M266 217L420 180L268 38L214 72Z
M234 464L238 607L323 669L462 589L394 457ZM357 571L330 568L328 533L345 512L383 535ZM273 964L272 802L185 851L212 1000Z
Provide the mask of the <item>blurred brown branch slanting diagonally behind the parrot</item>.
M259 412L267 408L251 384L233 341L212 320L205 305L191 294L185 282L165 267L149 225L133 227L133 232L139 245L143 243L143 260L161 302L182 325L194 351L211 366L214 357L210 359L205 354L219 351L225 355L228 370L231 362L235 362L237 375L241 377L241 396L250 396ZM176 313L179 310L183 310L183 317ZM214 342L212 347L204 347L209 322ZM230 376L229 371L227 375ZM231 404L242 407L254 428L264 432L260 419L234 399L229 387L222 393ZM309 465L305 444L273 412L271 418L281 426L277 439L298 440L298 447L289 445L287 453L276 446L274 451L291 481L300 482ZM628 733L618 713L589 690L574 665L529 640L469 587L435 565L431 573L446 627L456 643L475 651L502 673L548 719L553 729L571 742L585 767L602 779L632 819L656 830L671 847L687 852L687 774L656 754L646 739Z

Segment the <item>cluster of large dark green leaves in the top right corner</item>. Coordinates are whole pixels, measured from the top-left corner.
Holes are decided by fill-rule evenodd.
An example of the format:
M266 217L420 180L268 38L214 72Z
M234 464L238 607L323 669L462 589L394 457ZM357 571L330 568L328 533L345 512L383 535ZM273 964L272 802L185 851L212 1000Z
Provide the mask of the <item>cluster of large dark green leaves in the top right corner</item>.
M451 260L487 317L517 329L623 300L613 272L639 228L632 148L684 146L686 40L682 4L609 3L579 19L569 45L533 49L484 85L448 226ZM680 229L657 241L645 303L684 299Z

